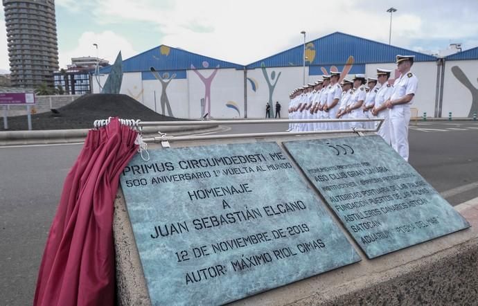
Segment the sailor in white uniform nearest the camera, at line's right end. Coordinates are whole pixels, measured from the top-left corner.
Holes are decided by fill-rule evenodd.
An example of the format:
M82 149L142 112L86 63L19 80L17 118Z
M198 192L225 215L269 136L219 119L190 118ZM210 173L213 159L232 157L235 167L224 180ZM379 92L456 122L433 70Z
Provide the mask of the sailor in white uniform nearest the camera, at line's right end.
M386 105L390 109L392 147L408 161L408 125L410 122L410 105L418 87L418 78L411 73L415 55L397 55L396 63L400 78L393 84L393 93Z

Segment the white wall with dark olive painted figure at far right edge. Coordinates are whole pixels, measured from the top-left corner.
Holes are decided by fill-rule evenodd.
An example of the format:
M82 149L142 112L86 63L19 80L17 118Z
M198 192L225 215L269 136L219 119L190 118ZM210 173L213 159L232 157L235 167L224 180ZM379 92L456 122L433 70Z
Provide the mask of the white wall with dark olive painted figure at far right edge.
M457 68L453 68L457 66ZM467 117L472 105L472 93L470 89L461 83L457 76L452 73L452 69L457 76L462 79L468 79L472 87L475 87L475 99L478 100L478 61L477 60L459 60L445 62L445 76L443 84L443 105L441 116L448 117L448 112L452 111L454 117ZM461 70L464 75L461 76ZM473 89L471 89L473 90ZM478 103L478 101L477 101ZM472 109L478 111L478 109Z

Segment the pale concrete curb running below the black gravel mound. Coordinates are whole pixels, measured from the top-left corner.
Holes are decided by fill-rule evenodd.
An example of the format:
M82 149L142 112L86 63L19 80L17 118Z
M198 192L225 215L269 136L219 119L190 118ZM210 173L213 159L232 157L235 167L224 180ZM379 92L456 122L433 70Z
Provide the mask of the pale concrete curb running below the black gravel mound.
M172 135L191 132L215 132L219 125L184 125L182 127L157 126L144 127L143 135L157 136L158 132ZM81 142L90 129L46 129L41 131L0 132L0 145L18 145L35 143L72 143Z

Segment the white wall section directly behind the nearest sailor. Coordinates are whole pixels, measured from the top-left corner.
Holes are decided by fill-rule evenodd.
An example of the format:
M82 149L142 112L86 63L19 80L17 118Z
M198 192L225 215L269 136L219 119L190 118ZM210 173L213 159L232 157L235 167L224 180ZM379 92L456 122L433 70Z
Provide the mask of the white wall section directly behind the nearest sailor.
M365 72L367 77L377 76L377 68L389 69L395 71L397 64L366 64ZM428 117L435 114L435 98L436 98L436 62L415 62L411 67L418 78L418 89L411 107L418 109L418 116L422 116L423 112L427 112ZM392 72L391 78L394 78Z

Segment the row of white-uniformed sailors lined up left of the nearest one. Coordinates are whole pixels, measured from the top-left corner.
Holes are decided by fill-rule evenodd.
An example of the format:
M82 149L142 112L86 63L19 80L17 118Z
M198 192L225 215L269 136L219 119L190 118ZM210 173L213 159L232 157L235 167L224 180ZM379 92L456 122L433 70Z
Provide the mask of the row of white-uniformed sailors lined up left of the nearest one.
M340 73L322 75L322 80L294 90L290 94L290 119L364 119L387 118L384 105L393 87L388 83L391 71L377 69L377 78L356 74L353 80L344 79L339 84ZM367 87L365 86L367 84ZM342 123L291 123L289 131L308 132L337 129L373 129L377 122ZM391 143L389 126L384 122L378 134Z

